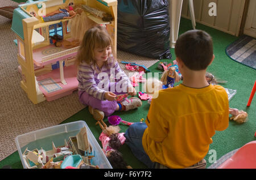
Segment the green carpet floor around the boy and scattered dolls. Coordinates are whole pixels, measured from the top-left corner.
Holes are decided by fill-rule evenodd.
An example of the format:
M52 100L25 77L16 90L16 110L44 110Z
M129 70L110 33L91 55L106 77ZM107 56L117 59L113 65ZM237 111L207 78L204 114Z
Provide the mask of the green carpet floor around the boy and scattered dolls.
M208 72L211 72L221 80L226 80L227 83L223 85L225 88L237 89L237 94L230 100L230 107L244 110L249 114L249 120L246 123L238 125L237 123L230 121L229 127L225 131L216 131L216 134L213 136L213 143L210 144L209 148L209 150L213 149L214 151L209 151L211 154L208 153L208 155L205 156L207 166L210 166L212 164L212 160L214 160L213 155L215 152L217 156L216 160L218 160L218 158L226 153L240 148L248 142L256 140L256 138L254 138L254 132L256 131L256 97L254 97L254 100L251 102L251 106L246 108L251 89L253 88L253 84L256 79L256 71L250 67L234 62L226 55L226 46L237 40L238 37L199 23L196 24L196 28L207 31L213 37L215 59L212 65L209 66ZM191 21L181 18L179 33L183 33L189 29L192 29ZM171 49L171 53L173 55L173 59L168 60L168 62L172 62L175 59L174 49ZM162 59L161 62L163 61L167 60ZM151 66L151 72L160 72L157 69L157 66L158 63ZM114 113L114 115L119 115L125 121L139 122L141 118L146 118L148 108L149 105L147 104L147 101L143 101L142 107L137 110L117 112ZM95 126L96 121L92 118L92 115L89 114L88 108L81 110L79 113L66 119L63 123L79 120L84 120L93 132L95 138L98 139L101 129L99 126ZM107 119L105 118L104 121L107 122ZM127 126L119 126L121 127L121 132L126 131ZM101 144L99 141L98 143ZM146 168L146 166L133 156L126 144L122 146L120 151L127 164L131 165L133 168ZM2 160L0 162L0 168L4 165L11 165L12 168L22 168L18 152L15 152Z

